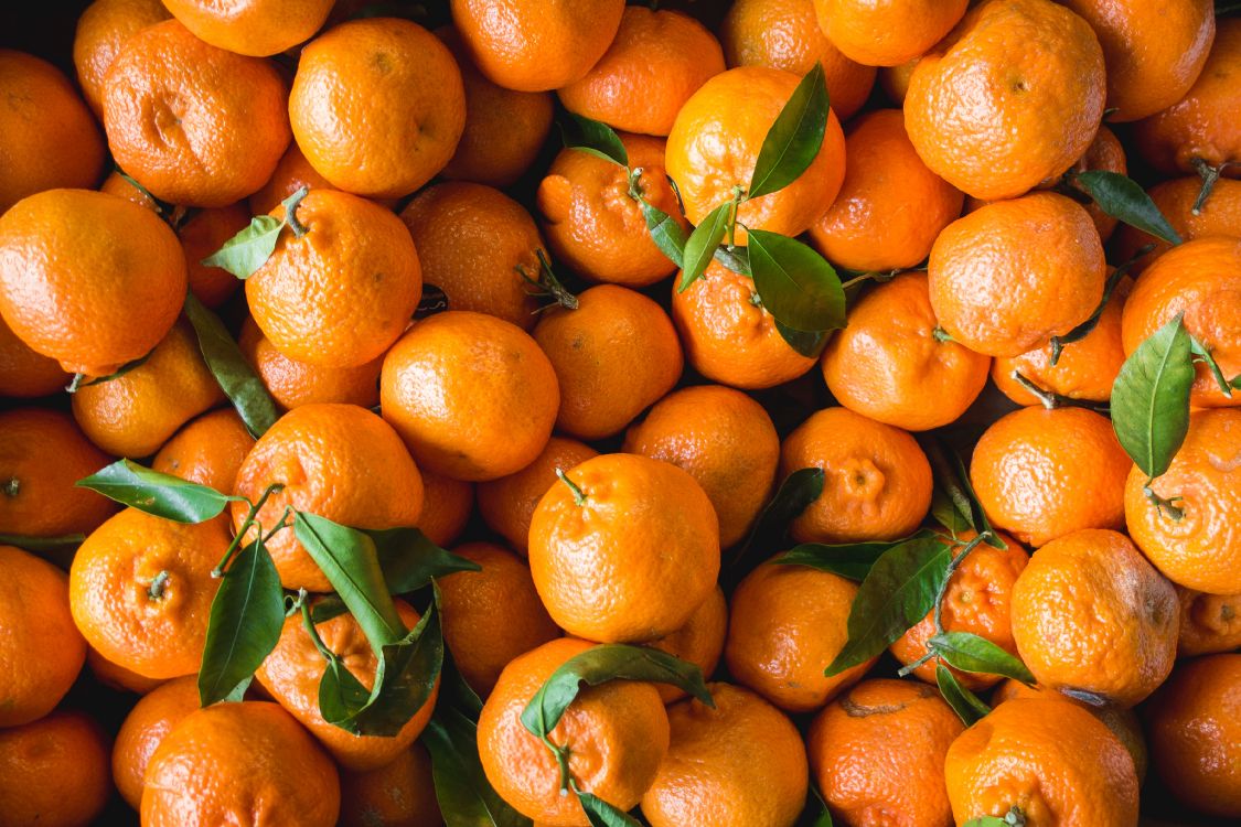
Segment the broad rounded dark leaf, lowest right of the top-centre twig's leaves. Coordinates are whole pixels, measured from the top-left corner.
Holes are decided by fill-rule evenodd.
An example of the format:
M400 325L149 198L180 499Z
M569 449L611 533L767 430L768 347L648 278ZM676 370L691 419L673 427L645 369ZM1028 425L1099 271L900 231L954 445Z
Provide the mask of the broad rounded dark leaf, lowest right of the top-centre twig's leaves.
M755 289L776 321L807 331L845 326L845 291L825 258L763 229L750 231L747 249Z

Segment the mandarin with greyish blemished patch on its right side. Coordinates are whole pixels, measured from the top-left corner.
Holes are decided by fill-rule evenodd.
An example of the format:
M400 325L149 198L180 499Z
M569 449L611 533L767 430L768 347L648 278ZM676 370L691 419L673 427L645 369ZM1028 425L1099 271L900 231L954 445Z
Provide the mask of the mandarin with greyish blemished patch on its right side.
M1011 606L1018 652L1047 688L1132 707L1172 672L1176 593L1119 532L1078 531L1040 548Z

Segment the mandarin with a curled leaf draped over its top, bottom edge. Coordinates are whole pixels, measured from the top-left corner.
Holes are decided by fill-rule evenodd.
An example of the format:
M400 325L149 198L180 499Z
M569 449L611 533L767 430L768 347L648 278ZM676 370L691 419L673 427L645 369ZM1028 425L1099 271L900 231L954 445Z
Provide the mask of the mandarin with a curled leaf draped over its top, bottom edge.
M520 715L552 672L593 646L562 637L514 658L478 719L478 751L486 780L511 807L549 827L587 827L589 822L577 796L560 795L556 759L521 724ZM609 681L583 687L549 739L568 749L568 771L582 790L630 810L668 751L668 714L655 684Z

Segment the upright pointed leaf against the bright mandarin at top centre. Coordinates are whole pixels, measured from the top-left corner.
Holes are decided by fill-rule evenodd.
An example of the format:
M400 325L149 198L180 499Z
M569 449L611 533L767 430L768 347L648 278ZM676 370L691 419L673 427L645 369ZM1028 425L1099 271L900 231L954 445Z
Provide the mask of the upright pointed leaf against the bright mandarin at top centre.
M805 172L823 146L828 112L823 66L815 63L767 130L750 177L747 197L757 198L783 190Z

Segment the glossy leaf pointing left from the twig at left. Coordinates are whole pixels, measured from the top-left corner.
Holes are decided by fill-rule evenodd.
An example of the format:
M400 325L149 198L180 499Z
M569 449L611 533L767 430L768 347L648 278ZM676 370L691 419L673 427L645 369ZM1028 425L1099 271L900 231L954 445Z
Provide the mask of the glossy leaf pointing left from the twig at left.
M179 523L206 522L218 517L230 502L244 502L243 497L220 493L205 485L160 474L125 459L82 477L74 485Z

